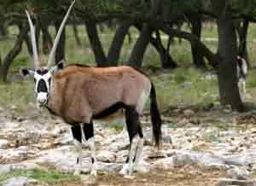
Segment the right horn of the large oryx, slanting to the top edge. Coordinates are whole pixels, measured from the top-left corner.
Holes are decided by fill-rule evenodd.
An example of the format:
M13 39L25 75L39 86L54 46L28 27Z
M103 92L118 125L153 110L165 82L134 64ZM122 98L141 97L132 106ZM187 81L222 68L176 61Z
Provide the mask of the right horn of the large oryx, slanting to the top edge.
M52 63L54 62L54 58L55 58L55 50L57 49L57 45L58 45L59 40L60 40L60 38L61 38L61 32L62 32L62 30L63 30L63 28L64 28L64 26L65 26L65 23L66 23L66 21L67 21L67 17L68 17L68 15L69 15L71 9L73 8L73 4L74 4L74 3L75 3L75 0L74 0L73 3L70 5L69 9L67 10L67 14L65 15L64 19L63 19L62 22L61 22L61 26L60 26L60 28L59 28L59 30L58 30L58 32L57 32L57 36L56 36L56 38L55 38L55 43L53 44L53 47L52 47L52 49L51 49L51 51L50 51L50 54L49 54L49 59L48 59L48 63L47 63L47 68L49 68L49 67L51 67L51 66L53 65Z

